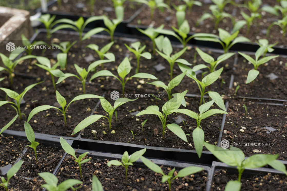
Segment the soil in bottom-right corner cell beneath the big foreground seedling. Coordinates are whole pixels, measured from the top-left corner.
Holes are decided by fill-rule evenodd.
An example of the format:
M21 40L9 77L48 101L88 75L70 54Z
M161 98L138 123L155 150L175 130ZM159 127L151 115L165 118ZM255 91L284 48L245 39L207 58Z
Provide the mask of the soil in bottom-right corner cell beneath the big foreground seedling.
M228 170L218 170L215 172L211 190L224 190L229 180L238 180L238 173ZM285 175L260 172L258 174L246 174L243 172L241 178L241 190L275 191L287 190L287 178Z

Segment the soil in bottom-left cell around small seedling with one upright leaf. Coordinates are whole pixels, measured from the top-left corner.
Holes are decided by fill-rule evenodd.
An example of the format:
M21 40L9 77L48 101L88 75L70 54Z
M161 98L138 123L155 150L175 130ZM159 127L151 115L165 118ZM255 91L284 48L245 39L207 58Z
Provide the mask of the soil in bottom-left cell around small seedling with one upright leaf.
M24 144L28 145L29 143L26 141ZM37 146L36 152L38 162L36 162L34 149L28 148L23 156L23 164L17 172L17 176L11 178L8 188L11 190L42 190L40 186L45 184L45 181L38 173L53 173L65 153L61 146L48 146L41 143Z

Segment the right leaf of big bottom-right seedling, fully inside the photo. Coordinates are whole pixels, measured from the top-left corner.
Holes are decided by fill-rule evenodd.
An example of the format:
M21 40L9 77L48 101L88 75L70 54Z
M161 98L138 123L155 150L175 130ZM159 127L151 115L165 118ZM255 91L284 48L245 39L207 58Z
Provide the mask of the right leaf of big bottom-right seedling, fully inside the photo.
M273 160L276 160L277 157L278 154L255 154L244 160L242 164L244 168L259 168L265 166Z

